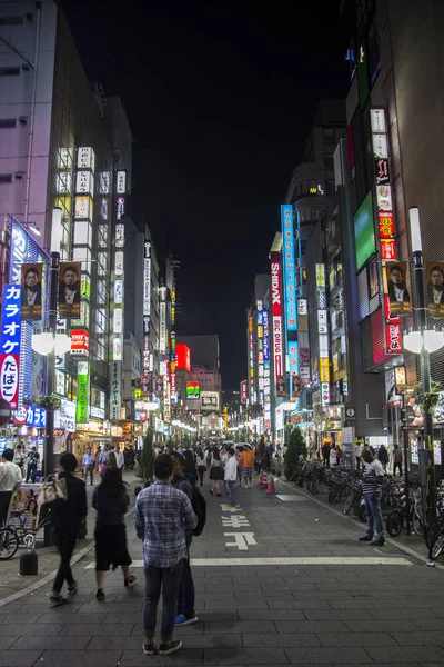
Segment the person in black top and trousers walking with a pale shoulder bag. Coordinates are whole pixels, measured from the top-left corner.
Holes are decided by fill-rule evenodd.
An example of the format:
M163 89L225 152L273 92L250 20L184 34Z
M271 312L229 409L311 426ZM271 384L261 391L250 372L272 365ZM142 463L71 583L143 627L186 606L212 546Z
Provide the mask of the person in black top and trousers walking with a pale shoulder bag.
M67 500L51 508L51 524L54 532L56 546L60 554L59 569L52 585L50 605L57 607L67 605L68 598L61 595L63 583L68 584L68 593L77 593L77 581L71 571L71 557L79 535L82 519L88 514L87 487L84 481L74 476L77 458L73 454L65 452L60 457L59 478L67 484Z

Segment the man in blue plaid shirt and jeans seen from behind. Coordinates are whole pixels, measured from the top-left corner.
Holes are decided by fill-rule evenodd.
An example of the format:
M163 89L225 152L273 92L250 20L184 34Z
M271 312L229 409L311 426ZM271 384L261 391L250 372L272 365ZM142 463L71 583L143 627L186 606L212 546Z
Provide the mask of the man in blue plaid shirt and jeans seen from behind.
M143 605L143 651L155 653L155 616L162 590L162 627L159 654L168 656L182 646L173 640L175 606L182 580L183 560L188 558L185 531L198 525L189 498L171 485L173 459L161 454L154 459L157 481L143 489L135 504L135 531L143 539L145 603Z

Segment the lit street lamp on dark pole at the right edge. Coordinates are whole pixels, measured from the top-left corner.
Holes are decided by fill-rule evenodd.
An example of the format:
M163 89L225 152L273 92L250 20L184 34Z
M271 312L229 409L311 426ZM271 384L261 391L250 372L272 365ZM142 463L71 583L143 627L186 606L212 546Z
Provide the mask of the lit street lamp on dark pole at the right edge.
M444 346L444 334L427 328L427 313L424 299L424 262L423 245L421 239L420 210L412 207L408 210L410 239L414 265L414 283L416 295L417 330L411 330L404 336L404 346L407 350L420 355L422 392L428 394L432 387L430 355ZM433 456L433 420L430 410L424 411L424 442L427 450L427 495L425 504L426 522L433 518L433 504L431 495L435 486L435 461ZM421 462L421 459L420 459ZM405 465L407 461L405 461Z

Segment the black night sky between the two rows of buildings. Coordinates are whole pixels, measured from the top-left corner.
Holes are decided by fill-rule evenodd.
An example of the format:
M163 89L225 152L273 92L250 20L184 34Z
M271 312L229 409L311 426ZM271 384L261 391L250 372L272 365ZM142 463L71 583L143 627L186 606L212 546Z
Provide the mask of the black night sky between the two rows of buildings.
M127 109L130 213L181 261L178 335L219 334L223 387L239 388L254 275L269 270L315 104L346 91L339 2L62 6L88 77Z

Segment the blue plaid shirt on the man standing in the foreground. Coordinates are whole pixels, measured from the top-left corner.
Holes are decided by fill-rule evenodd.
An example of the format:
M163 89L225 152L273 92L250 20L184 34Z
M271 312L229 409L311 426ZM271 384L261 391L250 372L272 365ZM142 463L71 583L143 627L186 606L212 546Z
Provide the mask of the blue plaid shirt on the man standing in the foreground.
M135 531L143 539L145 565L169 568L188 558L185 530L198 525L189 498L167 481L140 491L134 511Z

